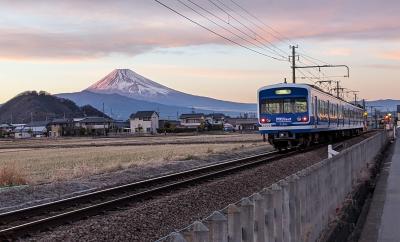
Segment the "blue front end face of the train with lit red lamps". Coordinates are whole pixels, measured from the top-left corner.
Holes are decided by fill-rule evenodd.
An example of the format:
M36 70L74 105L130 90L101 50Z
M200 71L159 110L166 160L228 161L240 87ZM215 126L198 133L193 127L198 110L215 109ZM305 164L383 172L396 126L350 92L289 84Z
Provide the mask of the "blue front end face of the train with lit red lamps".
M277 84L258 90L258 122L260 133L276 149L296 147L310 142L312 129L310 86Z

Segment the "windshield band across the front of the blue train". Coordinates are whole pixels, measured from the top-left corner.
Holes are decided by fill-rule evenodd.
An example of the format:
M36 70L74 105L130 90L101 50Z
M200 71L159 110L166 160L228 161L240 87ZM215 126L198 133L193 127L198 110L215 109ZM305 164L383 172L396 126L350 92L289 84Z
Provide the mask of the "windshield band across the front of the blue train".
M261 100L261 113L306 113L306 98L264 99Z

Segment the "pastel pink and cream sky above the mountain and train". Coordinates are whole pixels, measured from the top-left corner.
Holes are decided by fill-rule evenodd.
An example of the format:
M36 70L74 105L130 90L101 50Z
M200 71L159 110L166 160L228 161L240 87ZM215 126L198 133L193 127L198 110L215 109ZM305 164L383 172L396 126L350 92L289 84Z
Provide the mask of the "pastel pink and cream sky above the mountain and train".
M81 91L117 68L255 102L258 88L290 80L290 44L298 65L350 67L350 78L343 68L309 69L297 82L325 75L368 100L400 99L398 0L160 1L241 46L153 0L0 0L0 103L26 90Z

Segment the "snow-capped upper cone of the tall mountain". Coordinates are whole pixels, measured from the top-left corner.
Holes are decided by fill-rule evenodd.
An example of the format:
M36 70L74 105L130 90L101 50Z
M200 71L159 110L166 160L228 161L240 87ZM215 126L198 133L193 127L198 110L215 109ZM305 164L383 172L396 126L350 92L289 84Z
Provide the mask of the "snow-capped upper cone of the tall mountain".
M115 69L86 90L142 97L168 95L170 92L174 92L174 90L149 80L129 69Z

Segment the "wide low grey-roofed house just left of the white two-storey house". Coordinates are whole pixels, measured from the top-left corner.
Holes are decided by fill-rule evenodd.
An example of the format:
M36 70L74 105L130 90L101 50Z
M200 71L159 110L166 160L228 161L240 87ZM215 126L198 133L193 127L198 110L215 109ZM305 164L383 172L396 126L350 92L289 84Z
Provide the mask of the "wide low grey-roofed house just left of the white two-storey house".
M85 135L107 135L113 121L104 117L85 117L74 119L75 129L80 130L80 134Z

